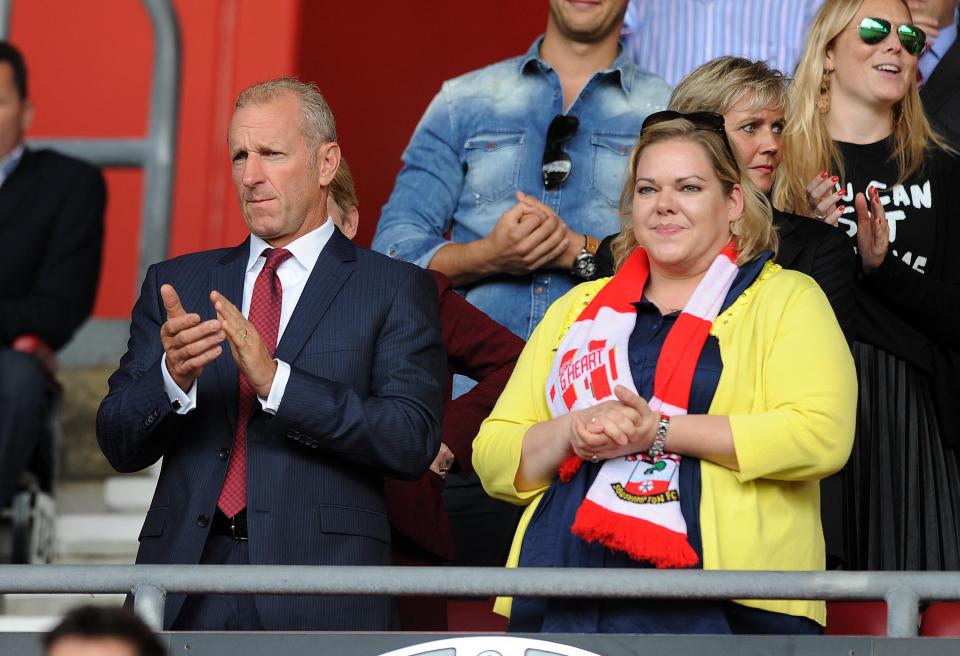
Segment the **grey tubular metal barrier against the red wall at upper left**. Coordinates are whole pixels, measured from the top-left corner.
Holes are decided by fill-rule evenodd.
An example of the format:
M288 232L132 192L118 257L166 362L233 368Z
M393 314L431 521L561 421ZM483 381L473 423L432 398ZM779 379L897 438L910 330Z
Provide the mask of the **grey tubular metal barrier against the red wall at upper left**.
M180 28L171 0L141 0L153 30L153 62L147 134L143 138L31 139L29 144L53 148L106 167L142 167L143 214L140 225L137 280L147 268L166 259L170 245L173 206L177 111L180 104ZM0 0L0 39L10 32L12 0ZM108 320L86 324L63 354L68 365L116 361L126 343L126 322Z

